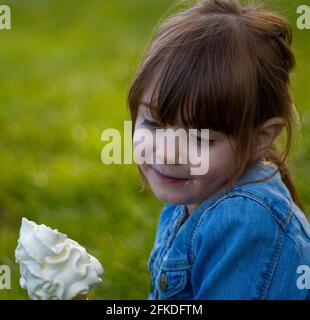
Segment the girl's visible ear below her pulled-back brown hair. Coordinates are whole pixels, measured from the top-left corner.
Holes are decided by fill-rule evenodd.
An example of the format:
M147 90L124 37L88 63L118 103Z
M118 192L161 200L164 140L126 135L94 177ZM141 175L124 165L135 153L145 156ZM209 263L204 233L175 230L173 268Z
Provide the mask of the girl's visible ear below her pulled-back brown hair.
M285 121L281 117L274 117L264 122L257 132L256 152L263 154L281 133Z

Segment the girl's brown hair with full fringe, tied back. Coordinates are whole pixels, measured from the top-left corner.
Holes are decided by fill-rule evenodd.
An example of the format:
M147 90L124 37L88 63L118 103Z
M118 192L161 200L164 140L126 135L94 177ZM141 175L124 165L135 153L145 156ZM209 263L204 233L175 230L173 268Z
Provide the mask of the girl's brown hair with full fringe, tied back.
M277 165L302 207L286 165L298 120L289 92L295 65L291 42L288 22L260 5L198 1L169 17L153 35L128 94L132 121L152 83L151 112L160 123L173 124L180 113L186 127L220 131L237 141L232 184L253 164L256 130L282 117L285 150L280 153L273 144L264 158Z

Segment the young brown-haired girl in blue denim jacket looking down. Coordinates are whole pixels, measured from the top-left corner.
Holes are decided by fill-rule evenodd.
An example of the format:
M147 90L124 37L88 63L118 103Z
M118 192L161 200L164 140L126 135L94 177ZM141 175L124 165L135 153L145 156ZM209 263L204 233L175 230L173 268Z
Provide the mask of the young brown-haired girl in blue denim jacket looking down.
M298 120L291 41L280 16L227 0L202 0L153 37L128 96L135 130L209 129L210 140L206 174L139 165L166 203L148 299L310 298L310 227L284 163ZM158 147L145 153L167 160Z

